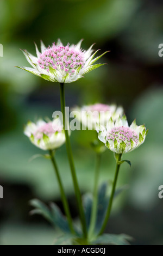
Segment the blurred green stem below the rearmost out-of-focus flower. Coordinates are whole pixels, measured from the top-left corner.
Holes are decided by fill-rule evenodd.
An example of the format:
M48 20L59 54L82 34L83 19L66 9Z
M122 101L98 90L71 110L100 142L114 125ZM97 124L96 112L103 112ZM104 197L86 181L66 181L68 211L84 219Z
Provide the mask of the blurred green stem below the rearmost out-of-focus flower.
M89 239L91 239L93 232L95 231L96 218L97 218L97 203L98 203L98 180L99 180L99 167L101 163L101 154L96 154L96 169L95 169L95 181L93 188L93 204L91 211L91 222L89 229Z

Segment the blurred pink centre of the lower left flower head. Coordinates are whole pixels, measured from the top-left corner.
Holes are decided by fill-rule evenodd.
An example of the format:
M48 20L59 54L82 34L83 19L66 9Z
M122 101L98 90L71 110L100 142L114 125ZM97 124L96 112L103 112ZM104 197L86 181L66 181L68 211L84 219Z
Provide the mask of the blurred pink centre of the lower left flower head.
M34 136L37 139L41 139L43 137L43 133L45 135L47 135L48 137L51 137L53 135L53 133L55 132L60 132L61 131L61 127L54 125L52 122L44 124L42 126L40 126L34 133Z

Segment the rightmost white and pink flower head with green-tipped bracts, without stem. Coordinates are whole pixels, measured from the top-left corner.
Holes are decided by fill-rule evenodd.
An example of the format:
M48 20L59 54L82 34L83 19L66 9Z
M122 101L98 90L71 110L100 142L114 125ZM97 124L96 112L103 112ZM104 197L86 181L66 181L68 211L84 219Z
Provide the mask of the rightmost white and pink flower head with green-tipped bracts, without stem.
M110 118L106 127L99 126L98 138L111 151L122 154L138 148L144 141L148 130L145 125L136 125L136 121L129 126L126 115L115 122Z

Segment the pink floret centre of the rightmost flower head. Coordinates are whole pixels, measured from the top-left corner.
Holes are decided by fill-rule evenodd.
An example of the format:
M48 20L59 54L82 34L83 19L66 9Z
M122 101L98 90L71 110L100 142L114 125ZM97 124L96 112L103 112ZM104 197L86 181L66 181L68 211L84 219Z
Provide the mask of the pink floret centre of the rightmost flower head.
M114 127L107 135L107 139L110 141L117 140L118 143L122 141L126 143L126 145L130 145L130 139L135 142L136 144L139 141L139 137L137 136L134 130L131 130L129 127Z

